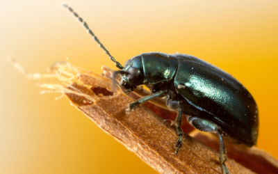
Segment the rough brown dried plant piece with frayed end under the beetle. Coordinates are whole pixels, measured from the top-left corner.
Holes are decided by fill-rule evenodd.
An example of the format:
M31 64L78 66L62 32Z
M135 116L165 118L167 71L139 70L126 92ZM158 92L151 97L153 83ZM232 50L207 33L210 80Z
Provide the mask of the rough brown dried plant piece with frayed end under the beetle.
M79 74L78 77L80 83L72 86L90 95L96 102L88 103L85 97L66 94L72 104L156 171L222 173L218 152L185 134L179 155L174 155L177 136L174 127L168 122L163 122L163 118L145 106L138 106L135 111L126 113L127 104L135 100L121 90L115 93L110 91L111 95L105 95L109 86L107 81L101 83L99 79L103 77L97 77L95 74L93 77ZM98 90L95 90L96 88ZM226 164L230 173L253 173L233 159L229 159Z

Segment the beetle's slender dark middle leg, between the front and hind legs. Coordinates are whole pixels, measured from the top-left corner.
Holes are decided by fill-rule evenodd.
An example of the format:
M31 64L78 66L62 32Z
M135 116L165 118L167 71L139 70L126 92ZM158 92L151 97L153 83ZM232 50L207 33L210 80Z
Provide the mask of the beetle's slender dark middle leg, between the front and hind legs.
M181 120L182 120L182 109L181 109L181 106L179 106L179 113L177 115L177 118L176 118L176 120L172 121L172 123L171 123L171 125L176 126L177 136L178 136L177 142L174 145L177 148L176 152L174 152L175 155L178 155L179 148L181 148L181 145L182 145L183 131L181 129Z

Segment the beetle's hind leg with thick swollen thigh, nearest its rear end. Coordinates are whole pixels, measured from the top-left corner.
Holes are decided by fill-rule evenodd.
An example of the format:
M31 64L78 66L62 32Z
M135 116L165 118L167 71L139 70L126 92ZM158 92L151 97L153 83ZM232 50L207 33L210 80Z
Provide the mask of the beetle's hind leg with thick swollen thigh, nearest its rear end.
M222 129L211 121L204 120L204 119L197 118L197 117L192 117L192 116L188 117L188 122L190 123L190 125L193 125L193 127L195 127L196 129L199 129L200 131L212 132L212 133L218 134L219 139L220 139L219 161L220 161L220 164L222 164L223 173L229 174L227 166L224 164L224 161L227 161L228 159L227 159L227 155L226 155L227 152L224 147L224 142L223 142L222 136L220 134L220 132L222 132Z

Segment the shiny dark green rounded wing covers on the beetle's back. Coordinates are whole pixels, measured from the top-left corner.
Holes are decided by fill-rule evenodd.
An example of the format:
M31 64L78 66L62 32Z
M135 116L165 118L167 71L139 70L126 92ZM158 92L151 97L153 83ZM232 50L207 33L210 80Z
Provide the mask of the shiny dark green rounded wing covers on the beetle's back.
M247 89L230 74L199 58L179 58L174 85L194 115L215 122L231 138L256 144L259 118L256 102Z

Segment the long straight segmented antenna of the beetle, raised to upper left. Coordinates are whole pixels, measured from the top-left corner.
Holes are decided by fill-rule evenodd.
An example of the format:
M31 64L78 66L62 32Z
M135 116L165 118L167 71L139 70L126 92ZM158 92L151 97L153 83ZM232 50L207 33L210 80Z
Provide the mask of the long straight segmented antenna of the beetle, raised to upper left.
M87 29L87 32L92 35L92 38L99 44L99 47L101 47L102 49L104 49L104 52L109 56L109 58L111 59L111 61L113 61L115 63L115 66L117 68L119 68L120 70L123 69L121 63L117 62L115 60L115 58L113 56L111 56L111 54L108 52L108 50L104 47L104 45L101 44L101 42L99 41L99 39L97 38L97 36L92 33L92 31L90 30L88 24L81 18L79 17L79 15L77 15L77 13L74 12L74 10L72 10L72 8L70 8L69 6L67 6L66 4L62 4L63 7L67 8L67 10L69 10L72 15L74 15L74 17L76 17L78 19L79 22L82 23L82 25L85 27L85 29Z

